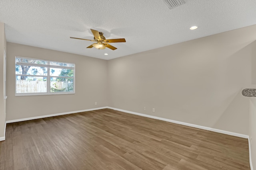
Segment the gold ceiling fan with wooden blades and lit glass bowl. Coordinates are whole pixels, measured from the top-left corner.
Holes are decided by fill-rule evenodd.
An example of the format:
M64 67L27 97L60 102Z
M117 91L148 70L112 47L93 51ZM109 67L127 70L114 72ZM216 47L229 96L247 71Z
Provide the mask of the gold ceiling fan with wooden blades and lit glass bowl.
M102 32L96 31L94 29L91 29L92 34L94 35L94 40L91 39L82 39L82 38L76 38L76 37L70 37L70 38L74 38L74 39L82 39L82 40L86 40L86 41L94 41L96 43L93 43L92 45L89 45L86 48L96 48L96 49L105 49L106 47L108 47L109 49L112 50L116 50L117 48L108 44L108 43L125 43L125 39L124 38L119 38L119 39L106 39L103 36Z

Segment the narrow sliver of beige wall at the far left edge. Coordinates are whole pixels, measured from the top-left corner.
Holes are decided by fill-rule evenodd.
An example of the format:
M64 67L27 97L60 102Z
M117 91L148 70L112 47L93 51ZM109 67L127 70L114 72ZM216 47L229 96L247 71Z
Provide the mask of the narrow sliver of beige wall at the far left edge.
M5 128L5 100L4 100L4 48L6 39L4 35L4 23L0 22L0 141L4 140Z

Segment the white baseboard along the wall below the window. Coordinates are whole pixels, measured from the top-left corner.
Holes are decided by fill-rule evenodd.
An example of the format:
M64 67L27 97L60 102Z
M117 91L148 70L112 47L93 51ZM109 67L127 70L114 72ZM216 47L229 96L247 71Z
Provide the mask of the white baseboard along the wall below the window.
M57 114L52 114L52 115L43 115L43 116L36 116L36 117L28 117L28 118L24 118L24 119L8 120L8 121L6 121L6 123L14 123L14 122L18 122L18 121L26 121L26 120L40 119L40 118L45 118L45 117L53 117L53 116L67 115L67 114L72 114L72 113L79 113L79 112L84 112L84 111L92 111L92 110L99 110L99 109L106 109L106 108L107 108L107 107L98 107L98 108L94 108L94 109L70 111L70 112L57 113Z

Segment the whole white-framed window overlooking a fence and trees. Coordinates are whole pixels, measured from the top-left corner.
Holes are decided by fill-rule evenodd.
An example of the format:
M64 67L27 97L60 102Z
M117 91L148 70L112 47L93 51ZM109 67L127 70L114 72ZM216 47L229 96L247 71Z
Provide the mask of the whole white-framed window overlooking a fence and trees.
M75 64L16 57L15 95L74 94Z

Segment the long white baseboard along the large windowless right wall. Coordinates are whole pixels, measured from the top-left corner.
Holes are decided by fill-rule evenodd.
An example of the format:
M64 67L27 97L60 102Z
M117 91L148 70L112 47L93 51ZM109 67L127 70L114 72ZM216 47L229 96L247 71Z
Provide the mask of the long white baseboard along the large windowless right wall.
M185 123L185 122L181 122L181 121L175 121L175 120L171 120L171 119L165 119L165 118L162 118L162 117L156 117L156 116L152 116L152 115L145 115L145 114L136 113L136 112L133 112L133 111L127 111L127 110L122 110L122 109L116 109L116 108L114 108L114 107L107 107L107 108L108 108L108 109L113 109L113 110L122 111L122 112L125 112L125 113L131 113L131 114L134 114L134 115L140 115L140 116L144 116L144 117L149 117L149 118L152 118L152 119L158 119L158 120L167 121L167 122L171 122L171 123L176 123L176 124L180 124L180 125L195 127L195 128L198 128L198 129L204 129L204 130L213 131L213 132L217 132L217 133L223 133L223 134L226 134L226 135L232 135L232 136L242 137L242 138L246 138L246 139L249 138L248 135L244 135L244 134L240 134L240 133L234 133L234 132L229 132L229 131L223 131L223 130L220 130L220 129L214 129L214 128L211 128L211 127L205 127L205 126L200 126L200 125L194 125L194 124L190 124L190 123Z

